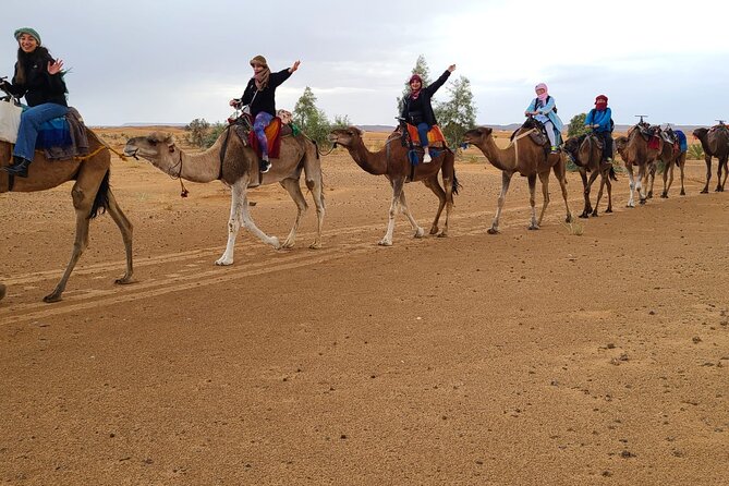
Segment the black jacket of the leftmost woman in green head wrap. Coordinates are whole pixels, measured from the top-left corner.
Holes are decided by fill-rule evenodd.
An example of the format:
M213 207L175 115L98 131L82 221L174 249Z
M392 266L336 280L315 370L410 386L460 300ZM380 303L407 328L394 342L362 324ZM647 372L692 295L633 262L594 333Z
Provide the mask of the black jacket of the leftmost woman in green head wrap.
M54 102L68 107L65 101L65 83L61 73L48 74L48 62L54 59L45 48L38 47L33 52L21 52L20 59L15 63L15 73L13 83L9 86L9 92L22 98L25 96L29 107L42 105L45 102ZM25 68L25 82L17 82L17 63L22 62Z

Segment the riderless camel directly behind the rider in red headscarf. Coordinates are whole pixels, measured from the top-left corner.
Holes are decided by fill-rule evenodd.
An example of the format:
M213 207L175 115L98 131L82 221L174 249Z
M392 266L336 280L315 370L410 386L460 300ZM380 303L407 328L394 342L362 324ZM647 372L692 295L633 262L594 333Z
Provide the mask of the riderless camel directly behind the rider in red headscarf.
M634 192L637 195L641 204L645 204L651 196L643 193L643 187L647 186L647 180L651 174L655 178L656 160L664 147L664 141L658 136L658 147L648 148L648 141L644 137L657 136L659 127L651 126L647 123L641 122L632 126L628 131L628 136L619 136L616 138L616 147L618 154L622 158L628 177L630 180L630 197L627 207L635 207ZM646 135L643 135L645 133ZM633 167L637 167L637 177L633 172ZM652 184L653 185L653 184Z

